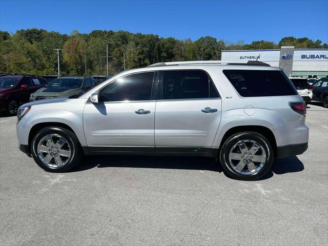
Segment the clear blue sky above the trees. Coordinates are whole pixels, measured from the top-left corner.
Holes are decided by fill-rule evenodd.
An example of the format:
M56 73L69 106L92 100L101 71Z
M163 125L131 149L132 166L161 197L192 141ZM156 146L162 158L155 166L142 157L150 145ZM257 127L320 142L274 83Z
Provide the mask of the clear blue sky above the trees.
M125 30L160 37L213 36L229 42L309 37L328 43L328 0L323 1L8 1L0 0L0 30L42 28Z

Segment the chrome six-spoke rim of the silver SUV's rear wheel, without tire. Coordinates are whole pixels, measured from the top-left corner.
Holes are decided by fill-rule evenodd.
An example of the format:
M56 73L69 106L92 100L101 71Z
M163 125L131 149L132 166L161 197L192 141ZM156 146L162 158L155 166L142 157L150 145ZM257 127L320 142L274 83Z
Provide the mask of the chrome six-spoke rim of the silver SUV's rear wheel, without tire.
M266 160L264 148L254 140L238 141L229 153L230 166L243 175L259 172Z

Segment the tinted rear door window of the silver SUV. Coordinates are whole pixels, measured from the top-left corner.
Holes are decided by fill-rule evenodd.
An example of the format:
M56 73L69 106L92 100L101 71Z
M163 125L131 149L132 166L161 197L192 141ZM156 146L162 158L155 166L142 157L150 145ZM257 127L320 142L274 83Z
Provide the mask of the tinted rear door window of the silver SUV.
M193 99L218 97L204 71L163 71L163 99Z

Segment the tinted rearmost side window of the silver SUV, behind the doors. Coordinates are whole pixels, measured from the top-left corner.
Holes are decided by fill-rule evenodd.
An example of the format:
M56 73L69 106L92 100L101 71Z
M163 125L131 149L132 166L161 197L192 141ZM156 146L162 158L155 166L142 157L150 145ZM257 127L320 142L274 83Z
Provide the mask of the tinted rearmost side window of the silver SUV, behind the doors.
M297 95L287 77L271 70L223 70L241 96Z

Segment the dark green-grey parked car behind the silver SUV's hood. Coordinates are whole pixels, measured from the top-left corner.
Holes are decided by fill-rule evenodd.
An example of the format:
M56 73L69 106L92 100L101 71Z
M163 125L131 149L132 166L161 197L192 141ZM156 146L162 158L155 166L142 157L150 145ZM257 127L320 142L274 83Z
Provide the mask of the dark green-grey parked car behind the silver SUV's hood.
M81 95L97 85L96 80L90 77L67 76L53 79L45 88L30 95L30 101Z

